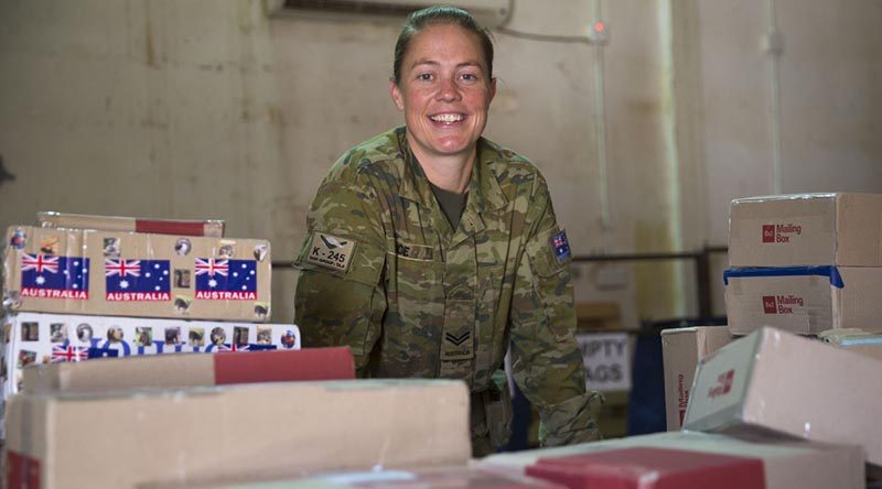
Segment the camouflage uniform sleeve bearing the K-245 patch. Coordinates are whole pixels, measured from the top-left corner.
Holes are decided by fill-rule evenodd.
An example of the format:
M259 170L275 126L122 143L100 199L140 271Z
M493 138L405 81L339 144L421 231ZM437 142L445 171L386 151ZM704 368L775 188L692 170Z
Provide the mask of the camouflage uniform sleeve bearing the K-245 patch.
M332 170L310 206L306 237L294 261L300 270L294 323L303 346L348 346L359 377L386 311L385 241L375 204L369 178Z

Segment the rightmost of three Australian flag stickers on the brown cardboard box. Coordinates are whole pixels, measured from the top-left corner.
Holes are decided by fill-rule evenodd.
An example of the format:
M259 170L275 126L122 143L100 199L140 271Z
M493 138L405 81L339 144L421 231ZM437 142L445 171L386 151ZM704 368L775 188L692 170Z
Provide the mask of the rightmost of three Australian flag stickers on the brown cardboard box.
M196 298L257 301L257 261L197 258Z

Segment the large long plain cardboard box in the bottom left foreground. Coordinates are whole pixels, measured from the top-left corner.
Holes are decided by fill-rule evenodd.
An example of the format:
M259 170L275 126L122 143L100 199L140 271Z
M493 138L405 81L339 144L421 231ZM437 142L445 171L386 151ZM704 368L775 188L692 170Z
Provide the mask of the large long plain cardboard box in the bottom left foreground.
M10 489L462 465L470 456L469 390L447 380L20 393L8 405L4 452Z

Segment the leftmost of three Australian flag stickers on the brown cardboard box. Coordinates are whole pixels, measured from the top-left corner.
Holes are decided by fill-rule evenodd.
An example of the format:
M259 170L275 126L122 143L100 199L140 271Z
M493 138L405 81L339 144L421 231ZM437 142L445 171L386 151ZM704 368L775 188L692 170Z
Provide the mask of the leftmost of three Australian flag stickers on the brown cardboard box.
M89 298L89 259L29 254L21 257L22 297Z

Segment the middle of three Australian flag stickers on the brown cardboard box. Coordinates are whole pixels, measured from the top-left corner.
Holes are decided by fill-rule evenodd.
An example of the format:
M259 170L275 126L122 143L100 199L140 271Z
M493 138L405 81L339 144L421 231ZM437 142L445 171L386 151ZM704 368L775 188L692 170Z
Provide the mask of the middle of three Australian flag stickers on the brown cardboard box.
M104 260L107 301L171 301L169 260Z

